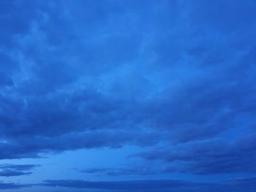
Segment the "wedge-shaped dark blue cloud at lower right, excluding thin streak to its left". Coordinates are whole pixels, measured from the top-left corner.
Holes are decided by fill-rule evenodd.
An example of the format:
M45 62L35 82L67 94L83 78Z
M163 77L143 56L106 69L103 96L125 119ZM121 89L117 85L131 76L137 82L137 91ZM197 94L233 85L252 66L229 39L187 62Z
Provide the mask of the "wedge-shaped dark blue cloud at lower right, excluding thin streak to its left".
M222 139L187 142L135 154L147 161L164 161L162 172L192 174L255 173L255 135L236 141ZM169 167L168 167L169 165Z

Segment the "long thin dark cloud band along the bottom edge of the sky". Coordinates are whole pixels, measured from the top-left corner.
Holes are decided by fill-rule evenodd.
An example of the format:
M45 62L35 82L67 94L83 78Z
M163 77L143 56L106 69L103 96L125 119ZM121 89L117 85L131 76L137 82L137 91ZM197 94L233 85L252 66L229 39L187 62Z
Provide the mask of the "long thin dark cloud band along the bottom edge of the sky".
M174 191L174 192L213 192L242 191L252 192L255 189L255 178L225 180L216 183L190 183L180 180L128 180L110 182L91 182L85 180L46 180L42 185L65 188L91 188L114 191Z

